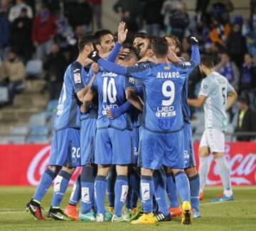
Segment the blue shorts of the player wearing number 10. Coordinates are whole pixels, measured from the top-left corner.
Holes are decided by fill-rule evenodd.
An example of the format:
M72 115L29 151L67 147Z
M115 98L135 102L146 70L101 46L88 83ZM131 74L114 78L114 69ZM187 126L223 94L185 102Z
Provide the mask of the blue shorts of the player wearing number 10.
M95 142L95 164L131 164L130 130L98 129Z

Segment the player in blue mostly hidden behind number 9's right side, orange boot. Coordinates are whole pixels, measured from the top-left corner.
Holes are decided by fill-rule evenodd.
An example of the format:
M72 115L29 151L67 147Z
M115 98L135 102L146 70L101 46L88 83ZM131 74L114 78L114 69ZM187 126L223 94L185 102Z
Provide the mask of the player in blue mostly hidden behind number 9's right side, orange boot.
M171 59L177 58L181 52L181 42L175 35L165 35L169 45L169 54L171 55ZM181 62L181 60L174 60L173 62ZM188 73L190 74L190 73ZM196 162L193 152L193 142L192 142L192 128L191 128L191 112L188 106L188 79L183 86L182 91L182 105L183 105L183 117L184 117L184 157L185 157L185 171L188 176L188 181L191 190L191 206L193 209L193 218L198 218L200 216L199 211L199 175L196 171ZM171 207L169 208L172 216L181 215L182 210L178 205L178 195L176 193L176 182L174 179L174 175L170 171L171 169L167 169L167 193L169 196L169 201Z

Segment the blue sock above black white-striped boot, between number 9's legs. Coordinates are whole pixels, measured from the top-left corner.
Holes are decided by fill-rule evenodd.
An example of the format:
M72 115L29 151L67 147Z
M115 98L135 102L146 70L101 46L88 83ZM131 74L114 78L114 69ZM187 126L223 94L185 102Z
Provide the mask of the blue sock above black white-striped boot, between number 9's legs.
M159 211L164 215L169 214L168 206L166 203L166 175L163 171L154 171L154 196L159 206Z

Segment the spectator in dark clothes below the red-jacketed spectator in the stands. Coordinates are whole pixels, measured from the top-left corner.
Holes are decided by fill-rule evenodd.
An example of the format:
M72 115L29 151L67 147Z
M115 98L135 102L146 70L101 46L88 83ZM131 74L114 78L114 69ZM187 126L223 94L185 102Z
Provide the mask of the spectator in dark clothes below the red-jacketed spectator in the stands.
M56 99L60 96L66 66L67 61L65 60L63 53L60 51L60 47L58 44L53 43L50 54L44 64L50 100Z

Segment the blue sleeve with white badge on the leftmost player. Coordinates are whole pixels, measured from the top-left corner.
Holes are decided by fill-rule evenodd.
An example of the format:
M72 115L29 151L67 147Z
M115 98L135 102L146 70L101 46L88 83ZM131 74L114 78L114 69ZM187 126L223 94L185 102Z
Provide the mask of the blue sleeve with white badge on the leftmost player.
M70 79L75 93L85 87L85 84L82 81L82 65L78 62L71 64Z

